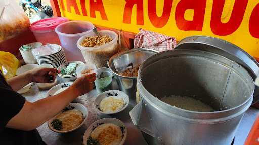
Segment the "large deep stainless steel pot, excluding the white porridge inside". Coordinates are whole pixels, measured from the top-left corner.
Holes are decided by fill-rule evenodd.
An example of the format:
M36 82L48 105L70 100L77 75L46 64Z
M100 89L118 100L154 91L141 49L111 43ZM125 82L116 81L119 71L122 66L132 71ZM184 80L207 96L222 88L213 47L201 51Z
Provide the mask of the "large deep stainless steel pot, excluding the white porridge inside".
M143 100L130 112L133 123L163 144L231 144L254 91L242 66L198 50L153 55L141 65L137 85ZM188 111L159 100L170 95L192 96L217 111Z

